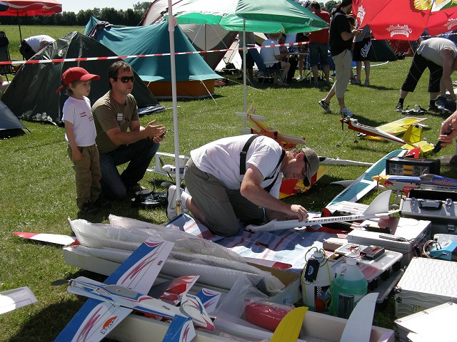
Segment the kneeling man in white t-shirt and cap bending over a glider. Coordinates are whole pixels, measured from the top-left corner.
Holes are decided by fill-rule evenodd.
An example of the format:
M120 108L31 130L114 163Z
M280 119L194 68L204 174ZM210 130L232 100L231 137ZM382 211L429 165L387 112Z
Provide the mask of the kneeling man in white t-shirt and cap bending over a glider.
M184 168L188 192L181 191L181 207L211 232L237 234L238 220L260 224L267 219L298 219L308 212L278 199L282 177L303 180L308 186L319 159L311 148L283 150L264 135L222 138L191 151ZM176 217L176 186L169 188L167 217Z

